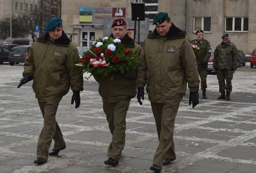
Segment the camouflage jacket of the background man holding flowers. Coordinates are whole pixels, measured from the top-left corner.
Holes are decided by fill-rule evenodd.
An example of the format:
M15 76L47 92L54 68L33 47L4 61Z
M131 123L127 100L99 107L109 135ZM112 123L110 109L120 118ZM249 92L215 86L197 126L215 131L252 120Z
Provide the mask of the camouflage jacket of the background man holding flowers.
M211 57L211 46L210 43L207 40L203 40L201 42L198 42L197 40L192 40L191 44L194 44L198 46L200 54L196 56L196 62L197 62L197 69L198 70L207 70L208 67L208 60ZM201 66L201 62L206 62L205 66Z

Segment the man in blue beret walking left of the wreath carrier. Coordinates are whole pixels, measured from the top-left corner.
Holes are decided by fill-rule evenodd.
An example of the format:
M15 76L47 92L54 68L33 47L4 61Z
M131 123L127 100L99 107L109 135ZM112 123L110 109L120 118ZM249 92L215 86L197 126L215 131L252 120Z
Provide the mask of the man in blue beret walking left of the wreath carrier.
M38 138L37 158L34 160L39 165L47 162L48 155L58 155L60 150L66 148L56 121L60 100L71 87L71 104L75 101L78 108L80 91L83 91L83 76L74 61L80 58L78 50L62 30L62 19L52 18L45 30L47 32L30 47L25 58L23 78L18 85L20 87L34 80L32 87L44 118L44 127ZM55 143L49 152L52 139Z

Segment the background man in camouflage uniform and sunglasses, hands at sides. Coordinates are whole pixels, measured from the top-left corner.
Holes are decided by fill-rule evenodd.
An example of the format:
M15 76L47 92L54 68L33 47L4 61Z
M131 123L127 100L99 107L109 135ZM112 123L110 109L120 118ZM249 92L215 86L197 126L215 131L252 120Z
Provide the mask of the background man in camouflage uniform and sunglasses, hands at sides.
M238 50L236 45L230 42L227 33L222 35L222 42L218 44L214 51L213 68L217 70L217 78L219 82L219 91L221 92L218 99L230 100L230 92L232 91L233 71L237 68ZM225 84L226 80L226 84ZM227 91L225 96L225 89Z

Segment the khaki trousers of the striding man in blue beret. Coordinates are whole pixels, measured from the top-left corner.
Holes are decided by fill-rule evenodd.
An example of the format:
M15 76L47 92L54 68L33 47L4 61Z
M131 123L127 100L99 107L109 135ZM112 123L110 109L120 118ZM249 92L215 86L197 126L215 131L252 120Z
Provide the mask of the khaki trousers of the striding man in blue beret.
M41 101L38 104L44 118L44 127L39 135L37 144L37 157L48 160L48 152L52 143L55 141L54 149L62 149L66 143L63 139L60 127L56 122L56 112L60 101Z

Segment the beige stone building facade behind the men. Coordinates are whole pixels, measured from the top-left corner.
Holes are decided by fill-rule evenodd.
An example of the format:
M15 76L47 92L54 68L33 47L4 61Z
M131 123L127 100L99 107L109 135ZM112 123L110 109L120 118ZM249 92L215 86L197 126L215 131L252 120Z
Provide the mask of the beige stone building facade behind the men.
M92 12L90 22L81 23L81 8L92 8L99 10L108 10L111 8L121 8L125 10L123 16L126 20L132 18L131 2L136 0L62 0L62 19L64 30L72 35L73 42L78 46L83 46L84 40L89 46L90 42L98 37L104 37L104 30L109 29L105 24L111 23L114 18L102 17L102 23L95 22L97 15L102 12ZM140 21L141 40L143 42L145 34L152 32L152 18L157 12L168 12L172 22L180 29L186 30L188 38L196 38L196 30L204 30L204 38L208 40L214 50L222 41L223 33L230 35L230 41L236 44L238 49L243 50L245 54L252 52L256 48L256 1L255 0L137 0L145 3L145 16L148 25ZM123 11L124 11L123 10ZM104 13L104 12L103 12ZM88 17L88 16L87 16ZM96 17L96 18L95 18ZM149 17L149 18L147 18ZM91 19L92 18L92 19ZM99 18L98 18L99 19ZM94 20L94 21L93 21ZM134 30L134 21L129 20L128 30L130 35L136 32L136 41L138 41L138 21ZM84 32L84 34L83 34ZM134 38L134 37L132 37Z

